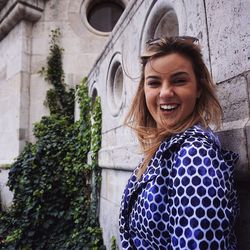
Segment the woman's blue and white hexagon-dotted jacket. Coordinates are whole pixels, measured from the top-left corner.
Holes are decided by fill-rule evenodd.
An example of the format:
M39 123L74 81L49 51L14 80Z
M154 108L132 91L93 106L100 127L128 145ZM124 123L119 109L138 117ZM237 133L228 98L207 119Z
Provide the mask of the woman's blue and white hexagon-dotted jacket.
M236 249L237 159L199 125L163 141L141 179L135 169L125 188L122 249Z

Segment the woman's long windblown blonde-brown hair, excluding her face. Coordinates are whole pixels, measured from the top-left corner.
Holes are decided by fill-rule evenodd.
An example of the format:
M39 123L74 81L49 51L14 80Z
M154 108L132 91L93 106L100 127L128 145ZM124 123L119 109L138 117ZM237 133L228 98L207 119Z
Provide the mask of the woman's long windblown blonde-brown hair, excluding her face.
M144 153L144 160L137 172L138 178L145 172L151 158L165 138L183 132L197 123L203 127L207 127L209 124L214 124L217 128L220 126L222 109L215 94L215 85L203 61L200 47L190 37L187 37L189 39L185 38L164 37L154 40L148 44L145 53L141 56L142 69L139 86L125 119L125 124L136 132ZM144 71L150 60L172 53L185 56L191 61L201 95L189 117L179 124L159 129L146 105Z

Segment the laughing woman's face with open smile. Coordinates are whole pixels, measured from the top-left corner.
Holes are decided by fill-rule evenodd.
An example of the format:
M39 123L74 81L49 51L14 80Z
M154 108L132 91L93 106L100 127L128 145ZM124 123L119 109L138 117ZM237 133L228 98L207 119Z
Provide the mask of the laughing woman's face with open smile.
M173 126L187 118L200 96L191 61L177 53L149 61L144 69L148 110L157 127Z

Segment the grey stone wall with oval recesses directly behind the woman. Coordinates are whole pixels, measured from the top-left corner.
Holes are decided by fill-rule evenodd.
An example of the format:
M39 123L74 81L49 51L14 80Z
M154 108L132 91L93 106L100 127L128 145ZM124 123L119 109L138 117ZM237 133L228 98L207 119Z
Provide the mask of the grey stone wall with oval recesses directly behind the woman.
M135 136L123 120L137 87L138 57L144 43L159 35L199 38L205 62L218 87L224 119L218 134L223 146L238 152L237 183L242 204L237 227L239 249L250 234L249 70L250 18L248 0L131 1L89 74L91 93L102 100L103 137L99 152L102 172L100 222L105 244L118 236L122 191L140 160ZM244 227L243 227L244 225ZM244 230L244 231L243 231Z

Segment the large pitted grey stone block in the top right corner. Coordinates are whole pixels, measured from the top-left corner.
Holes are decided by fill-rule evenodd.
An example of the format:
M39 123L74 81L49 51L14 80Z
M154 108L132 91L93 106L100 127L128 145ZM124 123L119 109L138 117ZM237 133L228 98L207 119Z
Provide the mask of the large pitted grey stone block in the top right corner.
M206 1L212 73L216 82L250 68L250 1Z

